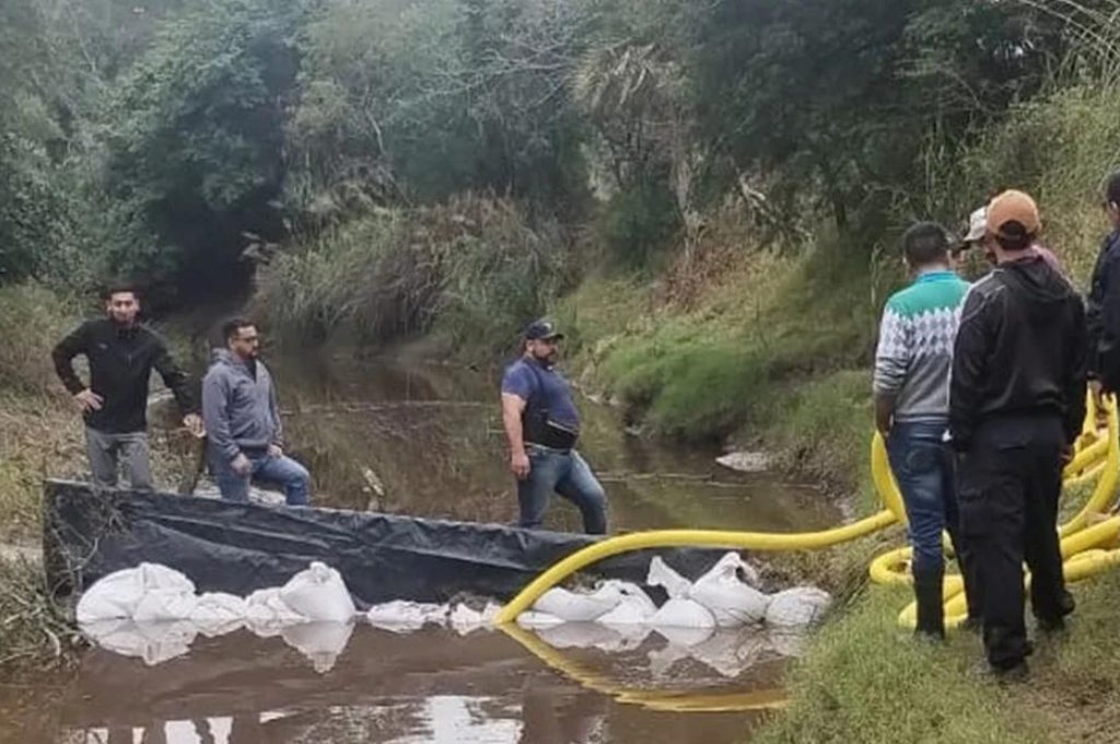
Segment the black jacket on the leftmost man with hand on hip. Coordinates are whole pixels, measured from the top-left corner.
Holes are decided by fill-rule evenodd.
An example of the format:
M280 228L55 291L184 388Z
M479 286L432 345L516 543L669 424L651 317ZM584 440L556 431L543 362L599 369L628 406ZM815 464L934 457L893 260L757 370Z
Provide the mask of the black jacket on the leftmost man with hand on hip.
M90 384L74 373L74 357L90 362ZM123 327L108 318L87 320L63 338L52 354L55 370L71 394L88 387L104 399L101 410L85 416L90 428L105 434L130 434L148 428L148 382L156 368L175 393L184 413L198 412L187 375L176 366L164 340L142 325Z

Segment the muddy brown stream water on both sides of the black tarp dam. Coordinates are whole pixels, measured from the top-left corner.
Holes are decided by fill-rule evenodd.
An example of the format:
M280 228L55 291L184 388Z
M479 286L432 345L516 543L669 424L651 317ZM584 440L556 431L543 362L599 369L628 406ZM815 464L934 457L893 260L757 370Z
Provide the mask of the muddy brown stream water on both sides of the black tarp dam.
M273 368L288 438L315 473L319 503L515 518L492 375L347 357ZM584 400L581 410L581 449L604 481L615 530L804 530L838 519L810 486L735 474L713 463L717 453L627 434L609 408ZM549 519L578 528L561 502ZM153 643L147 663L93 649L71 675L0 685L0 742L730 744L748 741L765 715L734 703L775 697L800 642L578 625L521 639L357 625L328 629L324 644L316 633L192 635L189 650ZM722 712L679 713L664 701L698 694Z

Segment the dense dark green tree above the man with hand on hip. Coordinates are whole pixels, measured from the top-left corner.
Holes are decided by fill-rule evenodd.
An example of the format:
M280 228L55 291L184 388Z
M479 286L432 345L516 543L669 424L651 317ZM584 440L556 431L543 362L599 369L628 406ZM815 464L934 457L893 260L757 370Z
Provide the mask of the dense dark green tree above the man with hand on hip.
M124 236L108 270L172 298L235 291L246 233L284 235L284 101L298 69L288 0L208 3L165 22L108 109L105 185Z

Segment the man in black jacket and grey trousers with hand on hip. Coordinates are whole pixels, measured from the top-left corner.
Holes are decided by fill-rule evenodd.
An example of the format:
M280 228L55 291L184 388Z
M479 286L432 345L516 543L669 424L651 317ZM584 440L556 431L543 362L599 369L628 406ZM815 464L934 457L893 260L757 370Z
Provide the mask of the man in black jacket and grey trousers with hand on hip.
M85 418L85 439L95 484L114 487L119 461L137 491L152 487L148 454L148 383L156 368L175 393L184 426L202 436L202 418L184 374L164 340L142 326L134 289L113 288L106 295L108 317L87 320L55 346L58 378L74 396ZM85 355L90 384L74 372L74 357Z

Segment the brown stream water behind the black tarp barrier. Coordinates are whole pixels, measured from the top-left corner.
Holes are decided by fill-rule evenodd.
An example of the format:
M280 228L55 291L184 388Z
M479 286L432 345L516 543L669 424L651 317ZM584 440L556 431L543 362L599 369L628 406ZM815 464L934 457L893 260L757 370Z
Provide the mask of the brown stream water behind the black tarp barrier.
M296 454L328 505L465 521L516 517L496 373L329 360L280 360ZM715 450L626 434L616 410L580 401L580 448L610 496L616 530L694 527L802 531L838 514L811 486L737 474ZM563 504L562 506L560 504ZM549 527L578 530L562 500Z

